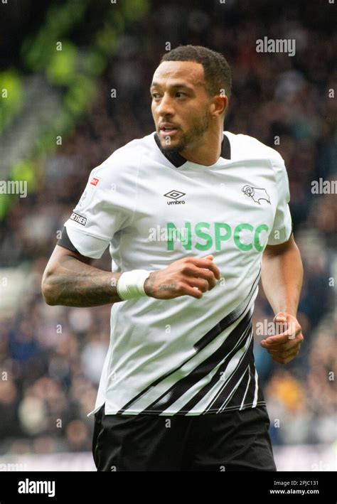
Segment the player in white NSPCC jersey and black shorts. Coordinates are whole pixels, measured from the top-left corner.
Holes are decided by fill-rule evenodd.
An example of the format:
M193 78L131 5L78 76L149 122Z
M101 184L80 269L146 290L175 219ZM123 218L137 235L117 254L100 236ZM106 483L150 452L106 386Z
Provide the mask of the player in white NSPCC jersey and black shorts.
M184 45L151 82L156 132L93 169L43 275L50 305L112 304L92 444L98 471L276 471L255 369L260 277L299 353L302 282L282 157L223 130L230 67ZM90 265L109 245L112 272Z

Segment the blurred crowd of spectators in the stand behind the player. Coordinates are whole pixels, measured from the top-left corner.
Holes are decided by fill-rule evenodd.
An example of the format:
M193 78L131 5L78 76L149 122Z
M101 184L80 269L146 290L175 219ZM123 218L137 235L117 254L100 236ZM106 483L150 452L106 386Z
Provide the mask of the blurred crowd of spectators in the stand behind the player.
M313 194L311 182L336 179L337 33L324 20L272 10L254 18L247 2L210 2L185 9L158 2L119 39L87 117L43 163L38 190L11 208L1 227L0 264L29 267L18 304L1 313L0 454L87 451L102 363L109 343L109 306L46 306L41 275L63 223L92 168L119 146L154 130L149 83L166 42L206 45L232 65L225 130L255 136L286 163L294 233L304 261L299 321L305 341L289 365L274 364L256 337L255 358L274 444L328 443L336 436L336 195ZM251 7L252 9L252 7ZM261 15L260 15L261 14ZM259 17L260 16L260 17ZM304 16L305 17L305 16ZM276 34L276 35L275 35ZM257 53L263 36L296 38L296 55ZM111 88L117 89L112 98ZM109 270L105 252L95 266ZM262 289L255 323L272 311Z

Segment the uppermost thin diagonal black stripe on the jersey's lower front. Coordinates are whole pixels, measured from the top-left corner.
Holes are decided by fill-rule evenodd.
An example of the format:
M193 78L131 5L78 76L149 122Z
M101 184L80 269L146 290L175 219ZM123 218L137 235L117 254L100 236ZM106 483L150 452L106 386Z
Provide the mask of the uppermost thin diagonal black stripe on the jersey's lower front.
M261 269L260 269L259 273L257 274L255 281L252 284L252 287L250 289L249 294L242 301L242 303L240 303L240 305L237 306L237 308L235 308L230 313L228 313L228 315L226 315L224 318L222 318L220 320L220 322L218 322L213 328L211 328L210 331L208 331L208 333L206 333L205 336L200 338L200 340L194 345L196 353L194 353L190 358L186 359L183 363L181 363L181 365L178 365L177 368L175 368L169 372L166 372L165 375L159 377L157 380L150 383L150 385L148 385L144 390L141 390L141 392L139 392L139 394L137 394L132 400L127 402L127 404L124 404L124 406L121 409L119 409L118 413L126 412L127 409L129 409L129 407L131 407L132 404L134 404L134 402L139 400L139 397L146 394L146 392L148 390L150 390L152 387L156 387L156 385L158 385L162 380L165 380L166 377L168 377L169 375L172 375L173 372L176 372L178 369L182 368L183 365L188 363L189 360L195 358L195 356L200 352L200 350L205 348L205 346L208 345L208 343L210 343L211 341L213 341L217 336L219 336L220 333L222 333L223 331L225 331L225 329L227 329L233 323L235 323L235 321L237 321L237 319L240 318L242 313L245 313L247 306L249 306L250 301L252 299L252 296L254 295L255 290L257 288L257 284L259 283L260 273L261 273Z

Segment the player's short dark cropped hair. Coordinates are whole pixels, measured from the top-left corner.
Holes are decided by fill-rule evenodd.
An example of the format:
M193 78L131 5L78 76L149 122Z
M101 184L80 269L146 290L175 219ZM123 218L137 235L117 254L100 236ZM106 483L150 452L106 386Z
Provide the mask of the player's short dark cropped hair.
M202 45L179 45L169 53L164 54L164 61L194 61L203 65L205 75L205 88L210 96L220 95L220 90L225 90L225 95L230 99L232 88L232 75L230 65L225 57L215 50Z

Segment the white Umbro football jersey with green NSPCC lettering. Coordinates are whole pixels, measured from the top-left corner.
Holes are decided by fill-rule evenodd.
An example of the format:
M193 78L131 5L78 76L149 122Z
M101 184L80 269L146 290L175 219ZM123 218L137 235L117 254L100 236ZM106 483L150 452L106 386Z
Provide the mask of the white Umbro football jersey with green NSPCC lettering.
M282 157L224 133L212 166L161 149L155 133L92 170L65 222L74 247L113 272L163 269L213 254L221 279L201 299L143 297L112 306L95 411L196 415L265 404L252 352L262 252L289 240ZM92 414L93 412L91 412Z

